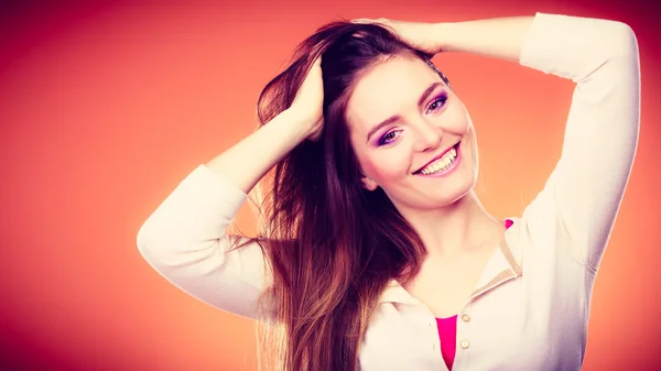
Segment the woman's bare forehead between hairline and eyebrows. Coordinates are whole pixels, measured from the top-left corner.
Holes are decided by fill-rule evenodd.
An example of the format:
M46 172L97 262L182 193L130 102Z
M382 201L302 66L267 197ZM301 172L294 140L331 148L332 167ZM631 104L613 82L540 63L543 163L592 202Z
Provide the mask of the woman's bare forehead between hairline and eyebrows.
M347 102L351 131L367 131L393 114L416 107L422 92L435 81L441 81L436 72L415 57L393 56L378 63L356 81Z

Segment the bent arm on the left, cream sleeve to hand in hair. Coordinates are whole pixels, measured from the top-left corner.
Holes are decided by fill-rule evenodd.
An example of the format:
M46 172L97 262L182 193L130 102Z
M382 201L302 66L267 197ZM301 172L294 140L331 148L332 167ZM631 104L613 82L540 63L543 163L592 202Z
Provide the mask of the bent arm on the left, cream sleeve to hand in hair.
M323 126L323 83L315 63L290 109L197 166L138 231L142 257L163 277L217 308L257 318L270 283L259 245L227 236L247 193L280 159ZM315 103L318 102L318 106Z

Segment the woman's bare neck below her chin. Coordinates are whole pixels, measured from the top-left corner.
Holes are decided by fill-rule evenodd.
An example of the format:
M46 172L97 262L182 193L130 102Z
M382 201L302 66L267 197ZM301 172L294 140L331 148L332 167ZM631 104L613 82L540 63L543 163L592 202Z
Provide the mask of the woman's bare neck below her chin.
M427 257L452 257L478 250L500 238L502 222L491 217L474 190L449 206L400 210L419 233Z

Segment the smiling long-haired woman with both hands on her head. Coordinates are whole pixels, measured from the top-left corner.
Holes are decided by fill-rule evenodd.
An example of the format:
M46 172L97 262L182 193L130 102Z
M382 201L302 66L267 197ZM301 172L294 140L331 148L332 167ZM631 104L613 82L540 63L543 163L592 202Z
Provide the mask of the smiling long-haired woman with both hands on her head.
M449 51L577 84L562 156L520 218L475 195L470 117L429 61ZM639 80L614 21L332 23L267 85L262 127L195 168L138 245L191 295L272 325L285 370L578 370ZM273 165L263 232L226 234Z

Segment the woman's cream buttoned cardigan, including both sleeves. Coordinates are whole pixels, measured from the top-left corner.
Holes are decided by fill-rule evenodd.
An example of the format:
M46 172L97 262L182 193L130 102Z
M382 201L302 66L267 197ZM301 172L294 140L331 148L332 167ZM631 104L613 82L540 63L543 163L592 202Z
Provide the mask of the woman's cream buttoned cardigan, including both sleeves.
M578 370L595 274L638 142L640 73L631 29L538 13L520 64L576 83L562 155L488 262L457 319L454 371ZM142 257L215 307L256 318L270 277L257 245L228 252L246 194L197 166L138 232ZM229 335L228 335L229 336ZM359 354L362 370L447 370L432 313L395 281Z

